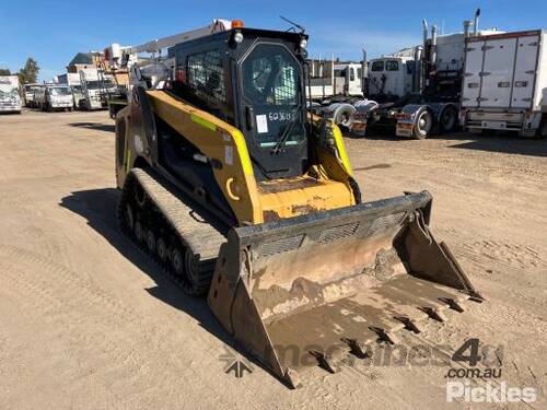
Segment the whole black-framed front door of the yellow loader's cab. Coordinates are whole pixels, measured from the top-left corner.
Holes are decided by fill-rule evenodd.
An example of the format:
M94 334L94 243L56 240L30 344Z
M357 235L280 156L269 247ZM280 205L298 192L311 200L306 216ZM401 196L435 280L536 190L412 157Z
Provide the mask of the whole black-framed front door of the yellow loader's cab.
M242 131L258 179L302 175L307 160L302 66L281 43L255 43L237 62Z

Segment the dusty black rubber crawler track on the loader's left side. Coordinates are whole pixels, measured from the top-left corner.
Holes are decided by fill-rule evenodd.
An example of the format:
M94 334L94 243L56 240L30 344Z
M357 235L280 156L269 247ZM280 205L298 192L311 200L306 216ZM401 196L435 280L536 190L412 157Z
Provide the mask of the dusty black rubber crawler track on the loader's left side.
M117 219L120 231L130 238L141 251L151 256L164 270L164 272L173 279L175 283L187 292L185 282L175 274L171 263L163 262L158 258L155 253L149 251L146 243L136 241L135 235L127 231L124 224L124 208L128 200L129 192L133 184L139 184L147 192L148 199L151 200L160 211L163 222L171 229L171 233L188 247L198 260L199 284L198 291L194 294L205 294L210 286L214 265L219 256L220 246L226 242L224 235L206 222L196 210L189 208L175 194L168 190L154 172L133 168L129 172L121 198L118 203Z

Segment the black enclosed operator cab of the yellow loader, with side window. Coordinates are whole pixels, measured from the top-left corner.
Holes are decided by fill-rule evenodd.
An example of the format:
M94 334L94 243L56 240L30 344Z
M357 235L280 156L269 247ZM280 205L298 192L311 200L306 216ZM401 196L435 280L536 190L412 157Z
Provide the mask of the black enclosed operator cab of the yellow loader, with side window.
M235 28L168 49L173 92L240 129L258 180L305 174L306 108L298 33Z

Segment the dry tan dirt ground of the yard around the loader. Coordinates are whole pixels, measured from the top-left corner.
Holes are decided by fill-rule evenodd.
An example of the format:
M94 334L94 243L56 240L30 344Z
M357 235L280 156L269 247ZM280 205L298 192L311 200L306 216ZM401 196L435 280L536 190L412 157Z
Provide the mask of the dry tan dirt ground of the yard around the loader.
M537 393L472 405L446 401L434 363L314 368L298 390L257 365L225 374L231 340L206 301L118 233L113 130L105 112L0 117L1 409L546 408L547 141L346 138L364 199L433 195L437 237L487 300L403 342L450 355L478 338L498 349L497 384Z

